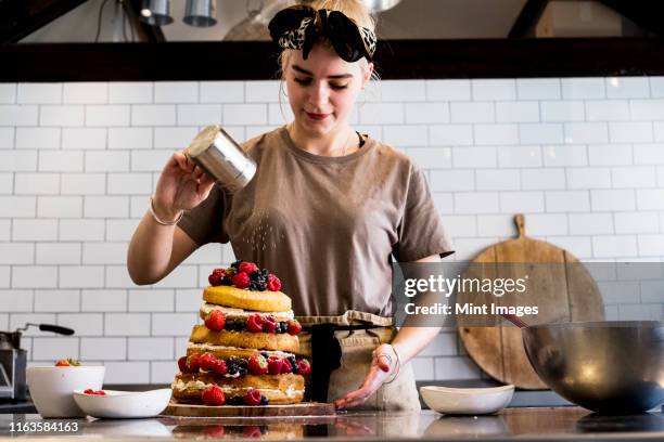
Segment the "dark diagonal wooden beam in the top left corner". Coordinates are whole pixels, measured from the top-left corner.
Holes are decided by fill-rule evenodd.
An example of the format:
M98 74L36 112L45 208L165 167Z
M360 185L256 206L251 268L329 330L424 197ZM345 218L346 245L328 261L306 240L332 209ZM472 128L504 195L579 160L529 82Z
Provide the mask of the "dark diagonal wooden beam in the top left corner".
M0 1L0 42L15 43L88 0Z

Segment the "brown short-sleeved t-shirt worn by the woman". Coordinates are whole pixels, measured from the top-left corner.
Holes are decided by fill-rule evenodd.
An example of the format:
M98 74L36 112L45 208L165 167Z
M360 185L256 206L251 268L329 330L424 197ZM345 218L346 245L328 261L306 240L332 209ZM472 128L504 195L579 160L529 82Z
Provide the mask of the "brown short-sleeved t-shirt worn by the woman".
M285 127L242 147L258 169L247 186L209 196L178 224L196 244L231 242L269 269L298 316L348 310L391 316L392 257L452 253L426 181L373 139L343 157L296 147Z

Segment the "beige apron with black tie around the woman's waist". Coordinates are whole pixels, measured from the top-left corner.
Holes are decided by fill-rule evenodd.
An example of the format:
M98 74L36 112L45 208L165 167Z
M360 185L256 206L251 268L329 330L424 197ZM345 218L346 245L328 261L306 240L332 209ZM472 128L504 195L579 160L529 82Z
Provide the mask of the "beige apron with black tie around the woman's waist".
M303 326L299 354L311 360L311 385L307 390L314 398L309 400L327 396L324 402L357 390L369 373L373 350L390 343L397 334L392 317L355 310L341 316L297 316L297 321ZM420 398L410 362L401 365L394 380L383 384L353 410L419 412Z

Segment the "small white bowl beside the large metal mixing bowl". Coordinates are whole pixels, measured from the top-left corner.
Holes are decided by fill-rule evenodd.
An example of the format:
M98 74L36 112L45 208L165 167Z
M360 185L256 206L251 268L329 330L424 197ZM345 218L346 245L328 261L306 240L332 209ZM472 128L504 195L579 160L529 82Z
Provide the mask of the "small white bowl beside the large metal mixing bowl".
M497 413L510 404L514 386L491 388L420 388L424 403L431 410L451 415L484 415Z

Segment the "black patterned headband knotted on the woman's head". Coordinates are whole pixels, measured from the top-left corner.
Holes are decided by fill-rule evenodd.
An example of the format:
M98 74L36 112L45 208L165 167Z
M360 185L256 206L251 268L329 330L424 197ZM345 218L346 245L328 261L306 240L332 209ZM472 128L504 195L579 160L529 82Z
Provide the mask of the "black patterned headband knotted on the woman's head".
M361 57L371 61L375 52L375 34L341 11L295 5L279 11L268 27L276 43L283 49L302 50L304 60L321 37L330 40L336 54L349 63Z

